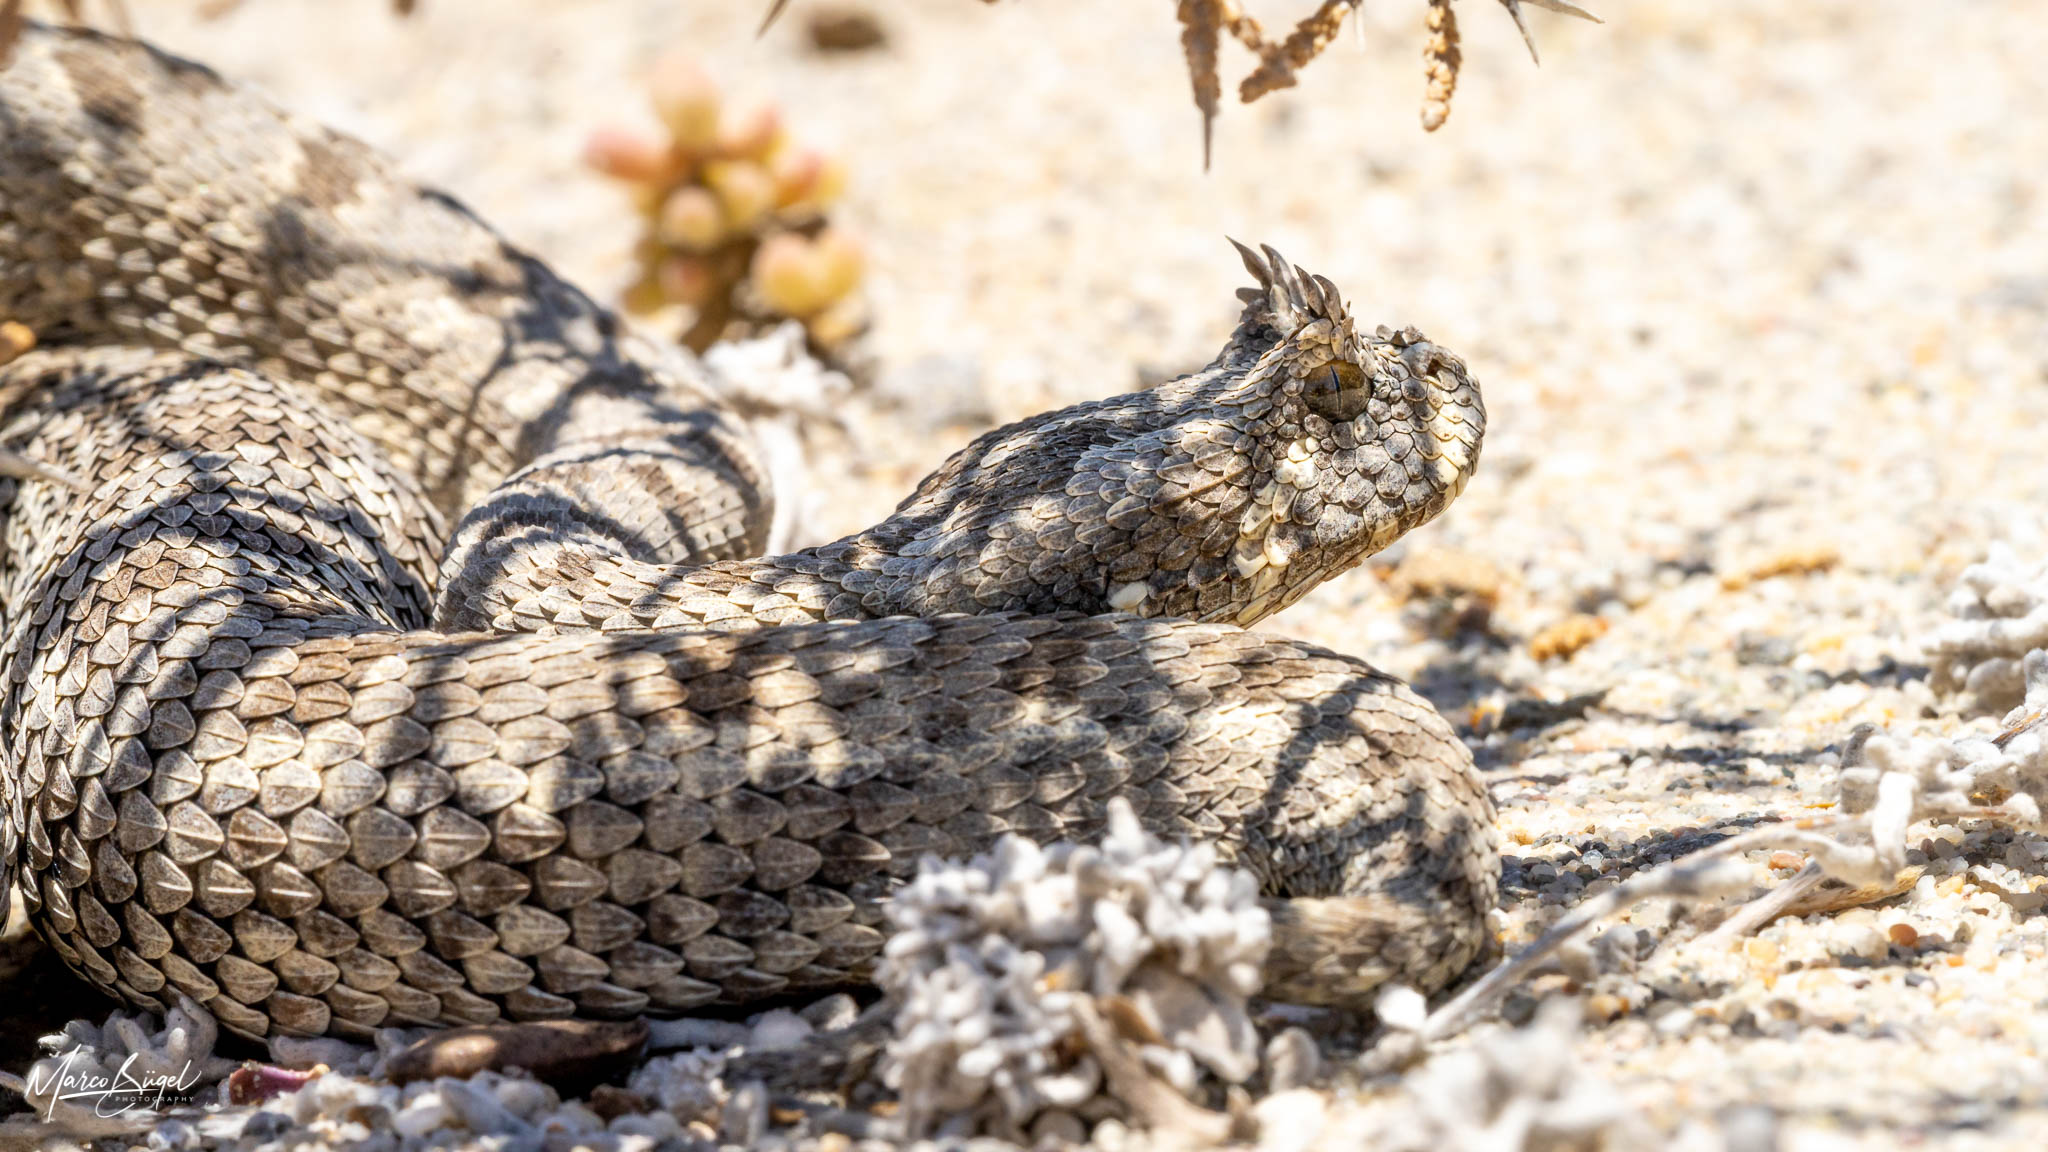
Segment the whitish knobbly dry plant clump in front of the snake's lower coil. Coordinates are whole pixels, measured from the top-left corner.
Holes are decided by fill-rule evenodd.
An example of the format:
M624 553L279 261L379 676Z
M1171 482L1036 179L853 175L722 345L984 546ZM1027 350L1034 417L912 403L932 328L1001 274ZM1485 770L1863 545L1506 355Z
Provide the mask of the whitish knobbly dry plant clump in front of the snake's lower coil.
M1257 881L1210 845L1153 840L1122 799L1100 849L1006 836L969 863L926 861L889 916L883 1078L909 1136L1020 1138L1098 1093L1139 1121L1190 1119L1165 1084L1257 1070ZM1192 1111L1159 1115L1178 1107Z

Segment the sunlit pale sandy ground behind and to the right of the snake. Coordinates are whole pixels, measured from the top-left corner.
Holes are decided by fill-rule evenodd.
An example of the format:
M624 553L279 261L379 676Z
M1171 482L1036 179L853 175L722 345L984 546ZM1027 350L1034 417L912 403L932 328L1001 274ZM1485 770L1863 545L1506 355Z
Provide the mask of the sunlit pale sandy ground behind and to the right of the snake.
M1491 410L1470 490L1268 627L1411 676L1468 736L1509 838L1509 945L1638 865L1827 804L1858 722L1993 728L1939 713L1919 637L1993 539L2048 556L2036 2L1532 10L1542 68L1468 4L1436 135L1421 6L1370 4L1300 88L1225 109L1208 174L1165 2L895 0L889 47L848 57L809 53L801 18L754 39L737 0L133 6L598 295L629 277L633 219L578 150L651 123L647 64L692 45L780 100L850 158L842 219L901 398L862 402L821 463L817 535L987 422L1206 361L1243 279L1227 234L1458 351ZM1575 615L1606 631L1538 660ZM1638 910L1642 968L1595 982L1612 1019L1571 1058L1667 1136L1751 1107L1786 1148L2038 1146L2048 842L1927 836L1913 892L1690 968L1659 955L1692 924Z

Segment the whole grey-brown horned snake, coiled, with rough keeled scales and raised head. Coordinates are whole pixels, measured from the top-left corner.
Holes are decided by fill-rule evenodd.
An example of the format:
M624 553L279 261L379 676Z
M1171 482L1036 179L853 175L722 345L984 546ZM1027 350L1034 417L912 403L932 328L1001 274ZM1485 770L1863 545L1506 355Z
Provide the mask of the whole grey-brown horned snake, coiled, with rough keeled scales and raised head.
M1470 756L1401 683L1239 625L1440 512L1479 389L1245 262L1204 371L745 560L762 474L694 361L360 143L31 29L6 867L135 1004L362 1035L860 982L920 855L1087 838L1124 795L1260 875L1276 996L1442 986L1495 898Z

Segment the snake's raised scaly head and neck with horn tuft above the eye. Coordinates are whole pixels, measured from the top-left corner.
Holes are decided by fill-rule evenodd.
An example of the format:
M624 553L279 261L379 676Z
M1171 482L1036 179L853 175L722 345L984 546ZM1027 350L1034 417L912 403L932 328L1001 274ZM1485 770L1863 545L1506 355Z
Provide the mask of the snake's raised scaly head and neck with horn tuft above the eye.
M1253 623L1442 512L1487 422L1458 357L1239 252L1257 287L1214 363L995 428L831 545L877 576L868 611Z

